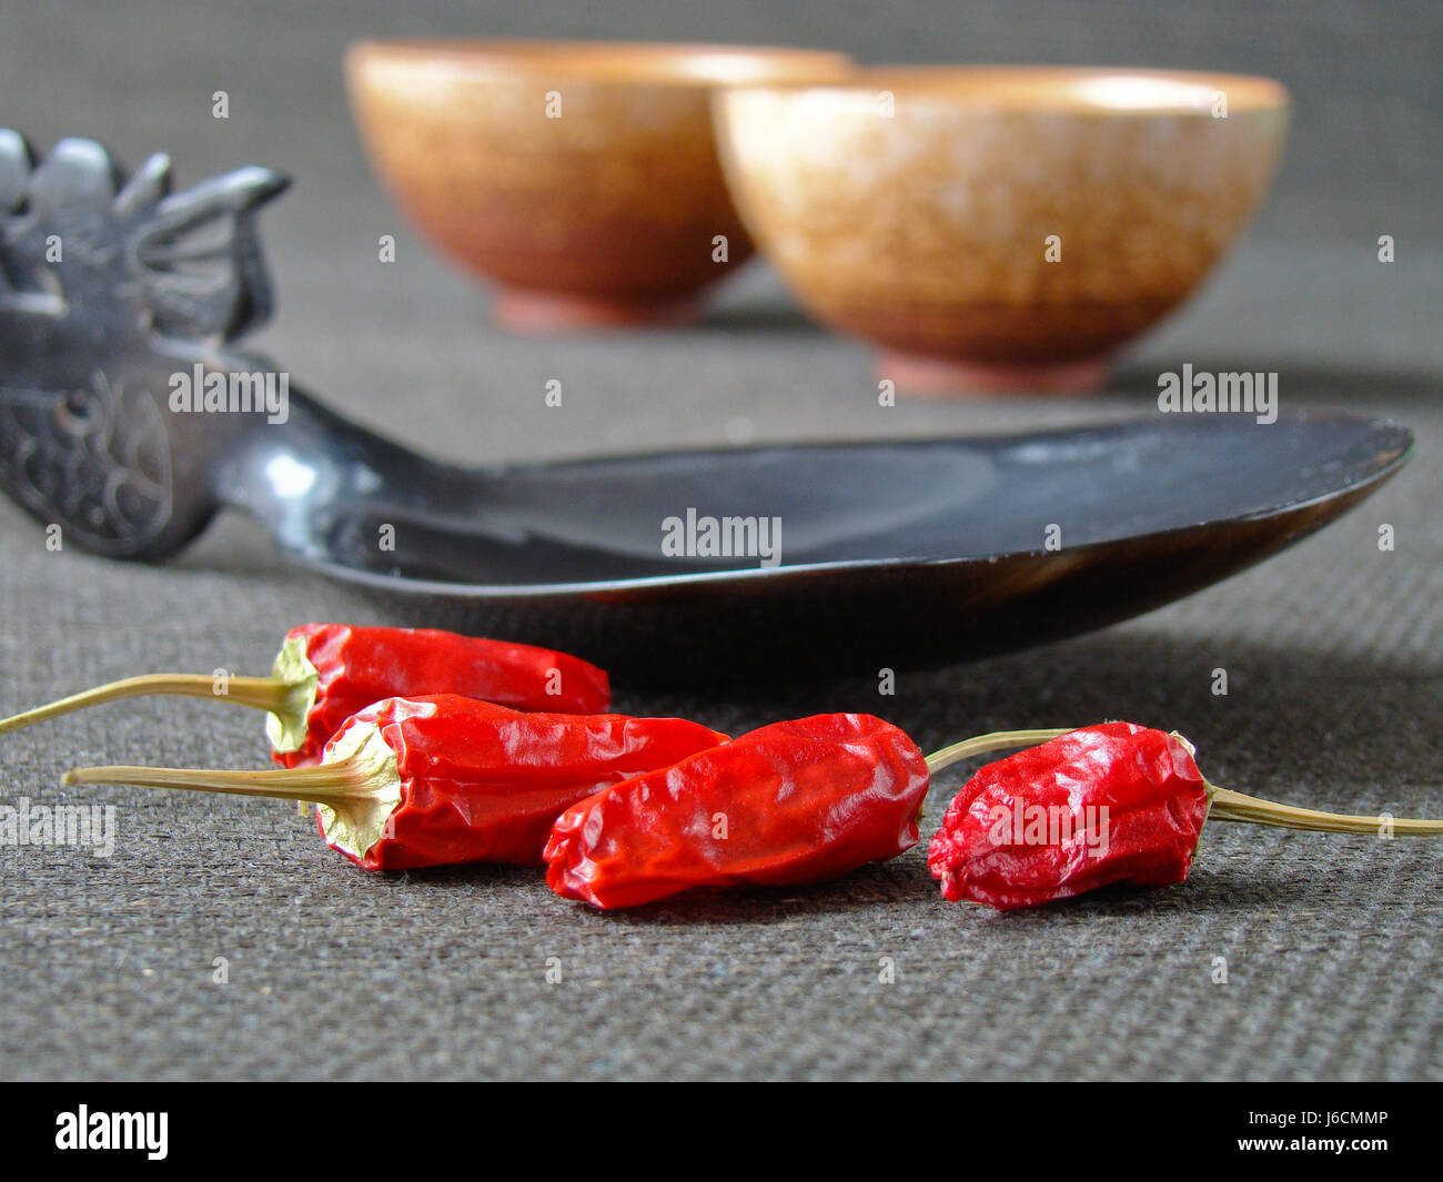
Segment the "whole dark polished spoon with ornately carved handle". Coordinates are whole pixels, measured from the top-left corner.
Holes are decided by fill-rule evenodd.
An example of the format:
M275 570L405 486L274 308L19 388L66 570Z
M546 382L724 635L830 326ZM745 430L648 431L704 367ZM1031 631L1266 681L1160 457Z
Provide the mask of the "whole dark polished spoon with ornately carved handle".
M1154 414L468 469L293 387L277 413L176 401L177 380L289 382L231 348L270 313L254 215L281 188L240 169L172 193L163 156L127 178L89 140L40 162L0 130L0 488L68 547L165 559L238 508L395 622L700 686L944 664L1098 628L1322 527L1411 449L1404 427L1345 414ZM208 228L219 237L198 245ZM46 250L56 234L63 261ZM668 518L688 514L775 518L781 544L668 553Z

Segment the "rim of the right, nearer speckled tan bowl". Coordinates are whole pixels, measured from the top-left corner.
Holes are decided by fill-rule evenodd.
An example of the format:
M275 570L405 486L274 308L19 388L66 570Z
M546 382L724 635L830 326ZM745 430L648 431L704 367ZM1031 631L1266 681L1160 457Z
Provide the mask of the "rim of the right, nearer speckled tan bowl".
M1108 101L1108 82L1141 84L1153 94L1118 89ZM1147 117L1212 117L1218 91L1227 94L1228 113L1287 111L1287 87L1255 74L1221 74L1192 69L1140 69L1136 66L1010 66L1010 65L866 65L834 79L779 79L726 88L720 105L745 101L753 92L834 101L838 108L864 101L876 107L877 94L890 91L909 104L974 111Z

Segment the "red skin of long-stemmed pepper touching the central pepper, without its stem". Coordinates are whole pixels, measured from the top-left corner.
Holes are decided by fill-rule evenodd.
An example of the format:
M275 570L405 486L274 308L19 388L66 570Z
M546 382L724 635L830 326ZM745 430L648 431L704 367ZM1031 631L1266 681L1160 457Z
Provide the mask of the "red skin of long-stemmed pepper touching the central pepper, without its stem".
M685 719L522 713L436 694L368 706L328 753L365 724L380 729L400 774L400 802L384 836L348 850L328 831L328 810L317 814L326 843L367 870L540 864L551 824L569 805L727 737Z

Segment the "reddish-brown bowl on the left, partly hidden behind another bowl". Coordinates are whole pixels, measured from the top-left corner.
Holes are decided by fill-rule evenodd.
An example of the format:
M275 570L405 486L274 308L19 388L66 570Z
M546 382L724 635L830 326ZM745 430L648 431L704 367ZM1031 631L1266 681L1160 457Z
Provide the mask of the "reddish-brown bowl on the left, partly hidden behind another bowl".
M410 221L499 284L501 323L556 329L685 319L753 253L717 159L713 89L848 65L824 51L397 40L354 45L346 84Z

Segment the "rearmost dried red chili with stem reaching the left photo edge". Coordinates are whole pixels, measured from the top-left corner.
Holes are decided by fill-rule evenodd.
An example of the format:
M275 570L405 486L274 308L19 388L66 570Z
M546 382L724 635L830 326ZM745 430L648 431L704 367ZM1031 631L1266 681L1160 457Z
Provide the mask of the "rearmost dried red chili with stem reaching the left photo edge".
M388 697L462 694L517 710L569 714L596 714L610 706L603 670L548 648L431 628L303 623L286 634L270 677L130 677L0 720L0 732L150 694L209 697L266 710L276 762L287 768L319 761L341 723Z

